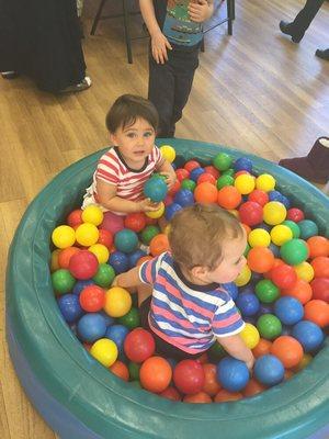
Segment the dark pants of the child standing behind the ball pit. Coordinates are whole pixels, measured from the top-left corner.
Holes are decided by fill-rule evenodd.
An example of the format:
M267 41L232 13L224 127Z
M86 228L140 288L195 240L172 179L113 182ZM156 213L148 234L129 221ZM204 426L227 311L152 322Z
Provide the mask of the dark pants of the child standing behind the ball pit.
M157 64L149 54L148 99L159 113L158 137L173 137L174 124L182 117L195 69L198 66L200 45L168 50L168 61Z

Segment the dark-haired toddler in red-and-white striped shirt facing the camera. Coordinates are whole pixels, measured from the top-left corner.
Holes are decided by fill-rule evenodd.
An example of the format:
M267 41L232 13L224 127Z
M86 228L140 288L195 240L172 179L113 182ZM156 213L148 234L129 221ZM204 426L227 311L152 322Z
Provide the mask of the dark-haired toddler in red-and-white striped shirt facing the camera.
M106 127L115 146L100 158L82 209L99 204L103 211L120 215L157 211L159 206L143 195L144 183L155 170L166 177L169 188L177 177L155 145L158 113L154 104L123 94L110 109Z

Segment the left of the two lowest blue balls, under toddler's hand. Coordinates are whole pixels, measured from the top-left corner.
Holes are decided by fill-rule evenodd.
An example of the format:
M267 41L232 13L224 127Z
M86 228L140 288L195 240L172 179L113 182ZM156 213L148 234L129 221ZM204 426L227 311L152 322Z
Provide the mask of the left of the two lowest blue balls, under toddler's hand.
M226 357L217 365L217 379L229 392L239 392L249 381L249 370L243 361Z

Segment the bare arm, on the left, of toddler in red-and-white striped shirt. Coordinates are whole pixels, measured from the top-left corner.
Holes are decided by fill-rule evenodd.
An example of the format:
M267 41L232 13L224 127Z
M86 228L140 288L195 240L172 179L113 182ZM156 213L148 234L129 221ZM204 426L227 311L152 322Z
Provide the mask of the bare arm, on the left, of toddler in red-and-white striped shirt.
M132 212L155 212L159 209L158 203L149 199L131 201L116 195L116 187L103 180L97 179L99 203L109 211L132 213Z

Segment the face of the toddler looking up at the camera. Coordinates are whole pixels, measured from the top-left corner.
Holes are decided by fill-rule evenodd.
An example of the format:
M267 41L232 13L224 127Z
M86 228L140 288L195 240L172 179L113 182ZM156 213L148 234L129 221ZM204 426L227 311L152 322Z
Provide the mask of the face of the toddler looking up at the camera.
M141 166L155 145L155 128L144 119L128 126L121 126L110 134L111 142L118 147L120 153L132 166Z

